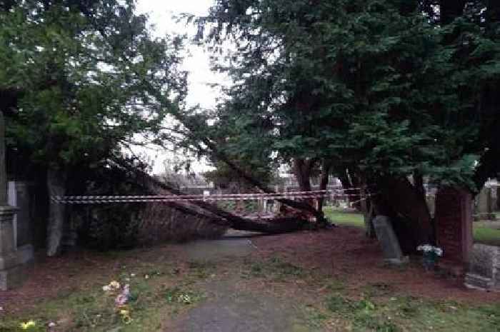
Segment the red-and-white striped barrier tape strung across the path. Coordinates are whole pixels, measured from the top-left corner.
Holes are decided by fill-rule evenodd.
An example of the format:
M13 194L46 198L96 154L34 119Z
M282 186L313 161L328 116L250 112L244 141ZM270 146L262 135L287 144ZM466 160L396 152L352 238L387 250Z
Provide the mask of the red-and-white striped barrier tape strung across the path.
M168 203L189 201L257 201L283 198L344 198L356 196L366 198L372 194L329 193L327 191L302 191L296 193L239 193L216 195L168 195L168 196L51 196L51 201L59 204L102 204L102 203ZM306 193L306 194L304 194Z

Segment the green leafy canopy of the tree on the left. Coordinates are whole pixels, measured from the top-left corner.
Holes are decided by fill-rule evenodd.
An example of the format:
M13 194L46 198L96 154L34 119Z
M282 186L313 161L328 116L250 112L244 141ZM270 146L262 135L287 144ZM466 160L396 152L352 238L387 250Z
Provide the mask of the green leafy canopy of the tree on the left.
M186 92L182 39L153 38L134 11L129 0L0 2L9 146L60 168L101 161L137 134L154 141Z

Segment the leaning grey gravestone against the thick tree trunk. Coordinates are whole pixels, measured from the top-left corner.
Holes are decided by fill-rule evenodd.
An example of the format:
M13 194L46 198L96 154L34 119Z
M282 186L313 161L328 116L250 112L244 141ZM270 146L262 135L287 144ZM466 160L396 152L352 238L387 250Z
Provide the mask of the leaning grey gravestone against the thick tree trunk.
M398 238L392 228L391 219L387 216L376 216L373 220L376 238L382 246L384 261L390 264L402 264L408 262L408 256L403 256Z

